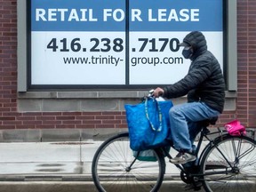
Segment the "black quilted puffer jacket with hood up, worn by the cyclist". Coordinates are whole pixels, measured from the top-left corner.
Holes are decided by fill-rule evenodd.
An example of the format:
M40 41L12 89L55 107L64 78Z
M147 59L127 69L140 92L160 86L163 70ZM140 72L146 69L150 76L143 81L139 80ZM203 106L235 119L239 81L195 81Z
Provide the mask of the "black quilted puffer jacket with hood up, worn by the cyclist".
M193 31L183 39L193 47L188 75L179 82L164 87L164 97L178 98L188 94L188 102L202 101L222 113L225 102L225 82L218 60L207 51L201 32Z

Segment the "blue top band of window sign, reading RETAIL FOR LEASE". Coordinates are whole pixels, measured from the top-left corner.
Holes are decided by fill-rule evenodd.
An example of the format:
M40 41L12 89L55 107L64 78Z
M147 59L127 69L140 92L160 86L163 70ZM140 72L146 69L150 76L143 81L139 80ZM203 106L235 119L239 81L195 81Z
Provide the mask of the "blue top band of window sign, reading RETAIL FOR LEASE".
M33 0L32 31L222 31L222 0Z

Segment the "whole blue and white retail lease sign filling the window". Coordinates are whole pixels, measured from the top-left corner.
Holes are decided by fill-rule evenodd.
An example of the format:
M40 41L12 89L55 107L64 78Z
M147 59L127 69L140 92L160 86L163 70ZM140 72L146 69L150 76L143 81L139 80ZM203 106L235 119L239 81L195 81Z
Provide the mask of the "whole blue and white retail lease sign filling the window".
M223 66L223 0L30 2L31 85L175 83L190 65L178 44L193 30Z

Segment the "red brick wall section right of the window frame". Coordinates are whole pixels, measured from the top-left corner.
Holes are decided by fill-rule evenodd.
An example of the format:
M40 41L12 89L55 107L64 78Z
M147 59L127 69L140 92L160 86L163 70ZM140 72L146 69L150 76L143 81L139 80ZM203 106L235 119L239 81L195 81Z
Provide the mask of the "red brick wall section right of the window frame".
M256 1L237 1L238 97L236 115L256 127Z

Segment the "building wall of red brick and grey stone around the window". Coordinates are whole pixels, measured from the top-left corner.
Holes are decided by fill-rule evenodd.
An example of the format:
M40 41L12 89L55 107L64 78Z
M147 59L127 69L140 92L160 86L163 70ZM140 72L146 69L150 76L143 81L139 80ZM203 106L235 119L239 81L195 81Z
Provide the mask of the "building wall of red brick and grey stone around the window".
M0 0L0 140L86 140L127 128L125 103L147 90L34 90L20 92L19 12L17 0ZM256 127L256 2L237 0L237 90L226 92L216 126L239 119ZM229 47L228 49L232 49ZM235 57L235 55L234 55ZM235 58L236 58L235 57ZM186 97L173 100L184 102Z

